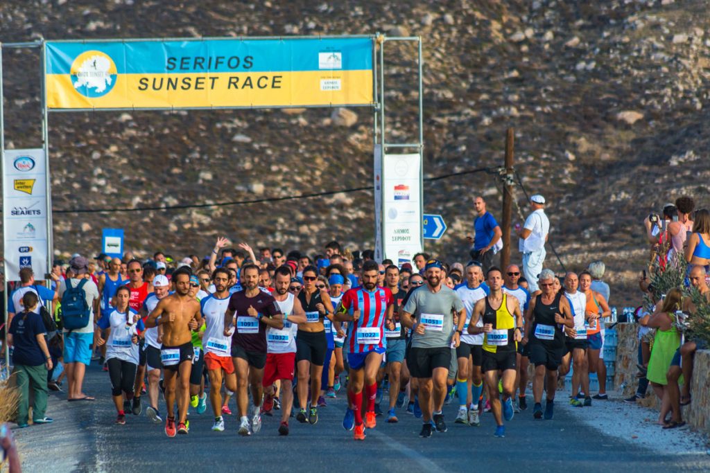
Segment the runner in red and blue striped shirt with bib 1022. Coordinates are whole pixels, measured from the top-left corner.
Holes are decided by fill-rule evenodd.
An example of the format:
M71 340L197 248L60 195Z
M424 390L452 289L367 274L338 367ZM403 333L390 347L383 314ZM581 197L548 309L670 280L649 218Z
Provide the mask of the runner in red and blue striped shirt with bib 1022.
M377 372L386 351L385 323L393 330L392 292L377 286L379 267L376 262L365 262L362 268L361 287L345 293L337 309L336 318L349 324L350 382L348 384L349 408L343 427L355 428L355 440L365 440L365 428L375 428L375 398ZM362 419L362 389L367 393L366 423Z

